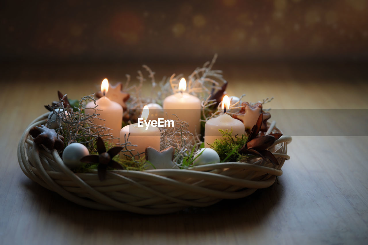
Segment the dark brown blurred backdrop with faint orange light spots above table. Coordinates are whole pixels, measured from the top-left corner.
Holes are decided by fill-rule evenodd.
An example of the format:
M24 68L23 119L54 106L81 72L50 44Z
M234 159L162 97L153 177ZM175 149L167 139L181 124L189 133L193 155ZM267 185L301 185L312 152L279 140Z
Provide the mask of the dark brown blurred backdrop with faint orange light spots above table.
M0 62L366 61L367 0L1 1ZM203 61L203 62L202 62Z

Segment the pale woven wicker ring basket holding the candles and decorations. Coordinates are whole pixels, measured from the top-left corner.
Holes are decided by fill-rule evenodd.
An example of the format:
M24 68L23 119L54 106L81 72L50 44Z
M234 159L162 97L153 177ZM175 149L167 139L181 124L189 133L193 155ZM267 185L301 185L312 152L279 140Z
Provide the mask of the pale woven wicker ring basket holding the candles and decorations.
M73 173L57 150L33 143L29 129L45 124L47 115L36 118L24 131L18 145L19 165L28 178L82 206L100 210L125 210L141 214L173 213L186 207L206 207L222 199L248 196L271 186L290 157L282 136L269 150L279 161L273 166L261 158L250 163L215 163L179 169L146 171L110 170L100 181L97 170ZM269 131L282 133L275 125ZM272 129L272 130L270 130Z

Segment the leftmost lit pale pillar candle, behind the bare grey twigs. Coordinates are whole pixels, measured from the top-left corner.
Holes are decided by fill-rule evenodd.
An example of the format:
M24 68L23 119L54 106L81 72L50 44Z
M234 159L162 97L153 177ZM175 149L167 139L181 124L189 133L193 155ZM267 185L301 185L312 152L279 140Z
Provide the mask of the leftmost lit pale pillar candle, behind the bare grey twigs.
M96 109L99 110L85 109L85 113L88 115L92 115L93 113L100 114L97 116L98 118L93 118L93 123L110 128L109 133L111 133L114 138L119 138L121 123L123 122L123 107L105 96L107 90L109 90L109 81L105 78L101 84L101 91L104 96L96 100L96 105L93 101L86 105L86 108L94 108L97 106ZM100 120L99 118L105 120ZM108 137L104 138L106 139ZM114 139L113 142L118 143L119 139Z

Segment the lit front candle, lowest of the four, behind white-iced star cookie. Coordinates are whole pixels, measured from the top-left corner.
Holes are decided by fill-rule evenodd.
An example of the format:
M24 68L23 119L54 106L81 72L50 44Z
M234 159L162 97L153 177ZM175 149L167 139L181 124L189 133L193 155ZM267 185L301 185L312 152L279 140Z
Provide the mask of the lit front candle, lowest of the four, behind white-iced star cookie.
M144 118L144 120L147 119L149 115L149 109L148 106L144 106L141 118ZM141 154L144 153L147 146L151 146L152 148L155 148L156 150L160 150L160 129L158 127L153 127L151 125L148 125L148 128L145 124L142 124L143 127L138 127L138 123L126 125L124 128L120 131L120 145L125 143L127 140L131 143L131 145L137 145L137 146L127 146L128 150L132 150L132 154L136 155L137 153ZM128 137L129 135L129 137ZM123 149L125 150L125 148ZM131 154L129 152L125 152L125 155L130 156ZM143 155L140 155L142 157ZM124 158L123 152L120 152L120 159ZM135 157L138 159L138 156Z

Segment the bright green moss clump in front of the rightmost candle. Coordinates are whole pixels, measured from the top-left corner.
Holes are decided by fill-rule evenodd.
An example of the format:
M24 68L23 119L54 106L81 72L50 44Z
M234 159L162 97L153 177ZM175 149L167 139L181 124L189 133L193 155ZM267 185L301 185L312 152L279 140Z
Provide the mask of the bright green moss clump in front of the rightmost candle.
M229 161L240 161L243 160L244 155L238 153L238 150L243 147L245 142L247 142L248 137L241 135L238 137L231 136L233 129L228 132L228 130L224 131L219 129L221 135L223 136L222 139L216 139L215 142L210 144L210 147L214 149L217 154L219 154L221 162L229 162Z

